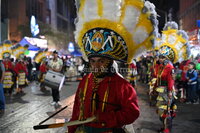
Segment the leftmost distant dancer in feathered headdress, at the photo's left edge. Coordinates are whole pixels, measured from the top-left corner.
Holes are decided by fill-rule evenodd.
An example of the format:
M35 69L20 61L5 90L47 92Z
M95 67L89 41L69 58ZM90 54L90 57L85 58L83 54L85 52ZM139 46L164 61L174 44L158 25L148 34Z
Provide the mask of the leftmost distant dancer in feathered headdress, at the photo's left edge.
M14 66L10 60L12 54L12 42L5 40L1 46L1 56L3 57L3 64L5 67L5 75L3 80L3 88L5 94L12 95L14 84Z

